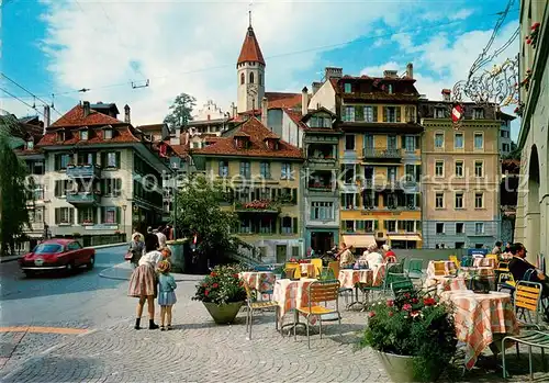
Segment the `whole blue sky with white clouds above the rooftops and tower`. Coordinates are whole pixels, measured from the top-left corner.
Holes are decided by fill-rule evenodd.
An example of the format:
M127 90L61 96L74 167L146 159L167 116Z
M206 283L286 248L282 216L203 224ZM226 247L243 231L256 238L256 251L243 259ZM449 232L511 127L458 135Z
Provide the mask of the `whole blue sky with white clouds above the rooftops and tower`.
M224 111L236 102L236 60L251 23L267 61L267 91L301 92L327 66L381 76L414 64L416 88L440 99L467 79L507 0L0 0L0 109L18 116L54 104L52 122L80 101L132 108L134 125L160 123L176 95ZM518 27L514 1L493 48ZM518 52L515 41L486 65ZM146 81L148 87L143 87ZM89 89L81 92L81 89ZM33 95L31 95L30 91ZM8 93L9 92L9 93ZM15 99L12 95L19 98ZM37 98L35 98L36 95ZM26 104L25 104L26 103ZM505 110L513 112L514 106ZM123 119L123 116L120 116ZM518 134L519 121L512 125Z

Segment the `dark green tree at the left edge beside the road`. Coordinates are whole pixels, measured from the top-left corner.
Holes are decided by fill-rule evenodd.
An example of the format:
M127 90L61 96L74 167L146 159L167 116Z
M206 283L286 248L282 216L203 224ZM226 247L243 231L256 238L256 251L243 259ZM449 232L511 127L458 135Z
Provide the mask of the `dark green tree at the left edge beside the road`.
M13 153L16 121L12 116L0 120L0 251L9 255L15 249L15 238L23 236L29 224L26 202L27 170Z

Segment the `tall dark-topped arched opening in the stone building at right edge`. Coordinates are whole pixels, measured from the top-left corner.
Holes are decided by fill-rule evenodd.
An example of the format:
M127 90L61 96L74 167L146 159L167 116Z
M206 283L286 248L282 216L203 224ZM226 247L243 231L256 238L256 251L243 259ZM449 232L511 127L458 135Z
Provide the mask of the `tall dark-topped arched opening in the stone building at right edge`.
M541 223L539 209L539 184L540 168L538 148L531 146L528 164L528 192L526 194L526 248L528 250L528 260L536 261L536 257L541 250Z

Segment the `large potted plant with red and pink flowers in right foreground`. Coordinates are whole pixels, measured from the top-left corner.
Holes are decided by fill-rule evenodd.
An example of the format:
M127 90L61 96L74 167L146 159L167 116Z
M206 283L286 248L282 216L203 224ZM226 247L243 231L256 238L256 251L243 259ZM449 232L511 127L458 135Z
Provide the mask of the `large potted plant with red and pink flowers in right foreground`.
M394 382L433 382L456 352L450 307L418 292L370 306L360 347L371 347Z

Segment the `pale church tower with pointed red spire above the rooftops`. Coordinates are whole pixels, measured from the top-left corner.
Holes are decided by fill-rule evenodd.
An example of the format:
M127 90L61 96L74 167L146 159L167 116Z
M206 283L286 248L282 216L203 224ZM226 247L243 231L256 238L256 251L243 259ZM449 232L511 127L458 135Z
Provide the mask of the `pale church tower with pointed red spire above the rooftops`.
M265 97L265 59L251 27L251 12L249 14L248 32L236 63L238 113L260 109Z

